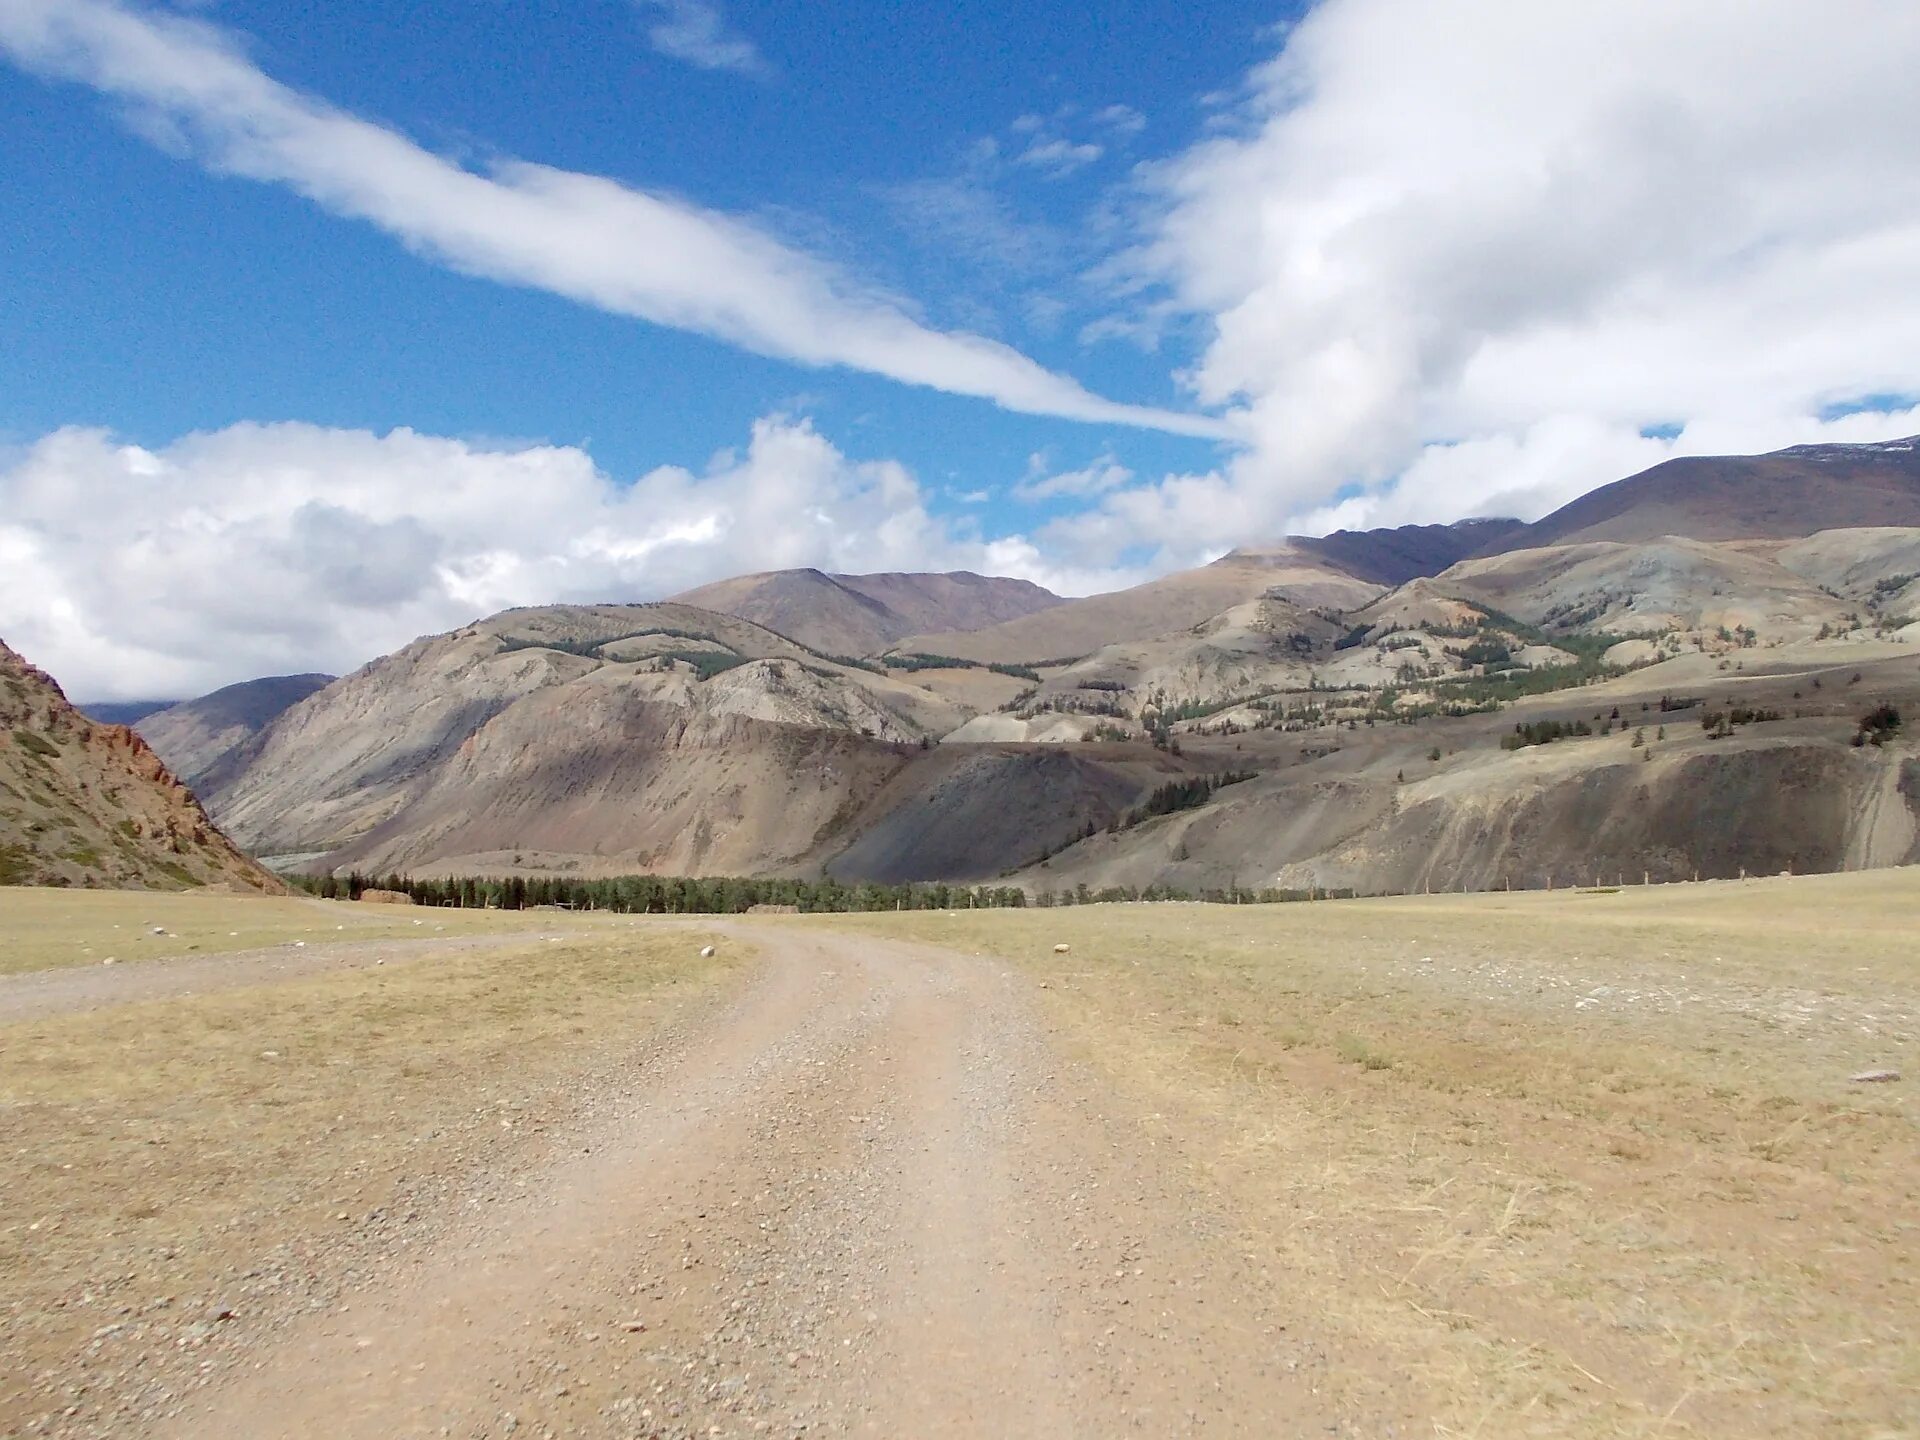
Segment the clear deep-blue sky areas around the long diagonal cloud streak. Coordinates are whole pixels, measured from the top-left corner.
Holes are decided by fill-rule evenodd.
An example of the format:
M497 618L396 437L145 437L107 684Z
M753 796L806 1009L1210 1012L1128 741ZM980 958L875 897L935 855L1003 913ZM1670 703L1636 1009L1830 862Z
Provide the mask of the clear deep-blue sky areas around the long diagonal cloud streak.
M276 81L428 148L685 196L902 296L933 326L1165 407L1188 403L1173 372L1192 361L1190 326L1158 351L1081 340L1123 309L1085 271L1125 234L1102 238L1091 217L1119 204L1135 163L1192 140L1204 96L1238 83L1275 19L1238 4L1200 25L1185 6L1089 19L1066 4L739 4L724 23L762 58L741 73L660 54L649 31L664 15L626 0L200 13ZM1023 117L1044 125L1018 129ZM0 307L13 317L0 424L15 440L75 422L142 444L244 419L405 424L576 442L630 478L697 467L785 409L852 453L899 457L935 495L1004 493L1037 451L1085 463L1112 447L1140 470L1204 468L1217 453L463 276L280 186L167 154L71 83L0 71L0 132L13 136L0 167ZM1069 173L1020 163L1037 140L1104 154ZM985 515L989 528L1021 518Z

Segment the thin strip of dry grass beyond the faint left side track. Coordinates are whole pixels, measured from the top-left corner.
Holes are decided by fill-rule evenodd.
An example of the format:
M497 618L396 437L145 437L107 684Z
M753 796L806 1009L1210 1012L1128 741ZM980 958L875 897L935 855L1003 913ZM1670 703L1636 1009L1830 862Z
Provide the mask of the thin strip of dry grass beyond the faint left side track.
M415 924L419 922L419 924ZM154 927L167 931L154 935ZM0 887L0 975L113 960L223 954L305 941L420 939L576 927L564 914L424 910L209 891Z

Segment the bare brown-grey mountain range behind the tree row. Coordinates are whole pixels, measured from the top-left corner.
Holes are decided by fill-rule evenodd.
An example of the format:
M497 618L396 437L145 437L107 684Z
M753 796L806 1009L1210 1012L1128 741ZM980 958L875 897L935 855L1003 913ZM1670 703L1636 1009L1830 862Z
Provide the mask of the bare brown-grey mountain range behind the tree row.
M1532 522L1062 599L741 576L144 716L273 866L1592 883L1920 858L1920 445L1682 459ZM1859 741L1859 743L1857 743Z

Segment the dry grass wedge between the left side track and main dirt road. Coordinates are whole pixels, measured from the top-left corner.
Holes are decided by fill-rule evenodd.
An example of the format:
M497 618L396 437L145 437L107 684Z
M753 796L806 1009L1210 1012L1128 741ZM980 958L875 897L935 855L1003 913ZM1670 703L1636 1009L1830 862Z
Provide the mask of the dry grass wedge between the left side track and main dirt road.
M0 1432L179 1384L157 1367L223 1306L324 1298L351 1244L323 1236L409 1242L415 1208L501 1173L503 1146L564 1119L572 1077L735 966L720 941L699 958L708 939L607 927L0 1025Z

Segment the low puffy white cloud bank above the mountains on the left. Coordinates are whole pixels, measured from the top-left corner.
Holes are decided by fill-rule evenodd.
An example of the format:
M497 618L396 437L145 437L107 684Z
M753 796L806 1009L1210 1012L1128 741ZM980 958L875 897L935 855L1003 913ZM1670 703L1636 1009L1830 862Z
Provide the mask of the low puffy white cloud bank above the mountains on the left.
M156 449L67 428L0 463L0 639L81 699L338 674L509 605L659 599L804 564L1075 591L1137 578L981 541L929 515L902 465L849 459L785 417L703 472L632 484L570 445L313 424Z

